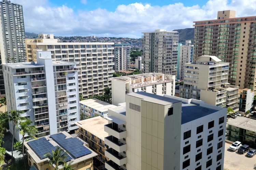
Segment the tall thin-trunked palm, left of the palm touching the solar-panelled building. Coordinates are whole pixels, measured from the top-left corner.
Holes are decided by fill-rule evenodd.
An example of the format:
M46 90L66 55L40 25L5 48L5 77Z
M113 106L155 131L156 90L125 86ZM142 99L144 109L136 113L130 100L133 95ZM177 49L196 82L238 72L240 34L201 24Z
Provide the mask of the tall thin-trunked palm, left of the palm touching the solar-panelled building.
M13 122L13 137L12 137L12 164L14 165L14 159L13 159L13 142L14 142L14 135L15 135L15 127L18 124L19 121L25 120L25 117L22 117L21 114L23 111L11 111L9 114L9 121Z

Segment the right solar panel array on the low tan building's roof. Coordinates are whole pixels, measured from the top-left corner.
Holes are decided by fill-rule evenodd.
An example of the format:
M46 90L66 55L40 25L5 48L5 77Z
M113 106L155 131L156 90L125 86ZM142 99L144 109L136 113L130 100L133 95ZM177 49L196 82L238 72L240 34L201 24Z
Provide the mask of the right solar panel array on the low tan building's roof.
M84 142L75 137L65 138L63 133L51 135L51 137L64 149L66 149L75 158L92 153L89 149L83 146Z

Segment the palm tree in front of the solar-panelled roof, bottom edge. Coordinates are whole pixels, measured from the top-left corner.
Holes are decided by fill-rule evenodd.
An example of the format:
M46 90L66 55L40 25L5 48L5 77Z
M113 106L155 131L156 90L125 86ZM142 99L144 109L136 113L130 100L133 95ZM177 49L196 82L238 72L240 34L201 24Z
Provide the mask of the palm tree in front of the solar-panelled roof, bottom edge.
M54 169L58 170L58 165L65 164L65 159L67 158L67 155L65 154L65 151L63 149L61 149L60 147L56 147L55 151L52 150L52 153L44 154L44 157L49 158L49 164L51 166L55 165Z

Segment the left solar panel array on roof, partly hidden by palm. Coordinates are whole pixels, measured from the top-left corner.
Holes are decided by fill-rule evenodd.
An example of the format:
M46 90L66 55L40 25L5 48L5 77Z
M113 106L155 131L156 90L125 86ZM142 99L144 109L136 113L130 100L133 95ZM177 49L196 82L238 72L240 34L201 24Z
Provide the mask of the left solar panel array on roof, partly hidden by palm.
M42 137L38 140L32 140L28 142L29 147L37 154L37 156L40 159L44 159L44 154L46 153L52 153L52 150L55 151L56 147L52 145L46 138ZM70 155L65 153L67 158L65 159L65 162L68 162L72 159Z

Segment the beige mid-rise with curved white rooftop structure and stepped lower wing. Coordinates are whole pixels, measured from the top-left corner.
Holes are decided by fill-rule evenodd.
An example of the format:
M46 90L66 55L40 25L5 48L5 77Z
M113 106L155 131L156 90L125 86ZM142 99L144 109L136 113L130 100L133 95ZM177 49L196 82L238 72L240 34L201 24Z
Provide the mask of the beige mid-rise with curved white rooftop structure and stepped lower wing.
M228 70L229 63L223 63L216 56L203 55L194 63L186 63L180 97L238 111L239 87L228 83Z

